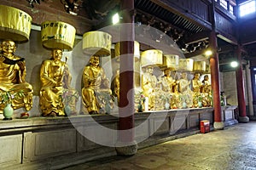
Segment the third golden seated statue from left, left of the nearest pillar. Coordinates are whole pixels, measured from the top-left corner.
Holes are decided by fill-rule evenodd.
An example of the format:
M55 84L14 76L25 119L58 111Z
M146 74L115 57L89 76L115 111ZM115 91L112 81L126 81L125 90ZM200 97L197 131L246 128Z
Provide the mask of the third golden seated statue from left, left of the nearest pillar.
M112 91L103 68L99 65L100 59L93 55L90 64L84 67L82 98L83 104L90 115L108 113L113 107Z

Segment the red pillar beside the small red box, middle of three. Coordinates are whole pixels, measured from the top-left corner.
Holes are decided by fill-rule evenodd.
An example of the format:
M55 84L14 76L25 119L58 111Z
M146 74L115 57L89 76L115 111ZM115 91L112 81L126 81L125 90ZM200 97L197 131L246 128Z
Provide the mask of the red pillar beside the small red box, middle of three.
M218 52L217 52L217 37L216 32L211 31L210 35L210 48L212 49L212 56L210 58L211 67L211 82L212 82L212 97L214 108L214 123L215 129L223 129L224 122L221 119L221 106L220 106L220 90L219 90L219 67L218 67Z

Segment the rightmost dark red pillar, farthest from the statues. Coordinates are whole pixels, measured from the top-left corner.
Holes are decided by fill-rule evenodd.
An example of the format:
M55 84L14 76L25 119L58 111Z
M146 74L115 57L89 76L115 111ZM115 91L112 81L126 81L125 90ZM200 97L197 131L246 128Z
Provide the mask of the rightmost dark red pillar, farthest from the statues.
M246 111L245 95L244 95L244 82L242 76L242 59L241 59L241 46L238 45L237 50L237 61L239 63L236 70L236 88L237 88L237 99L238 99L238 110L239 110L239 122L249 122Z

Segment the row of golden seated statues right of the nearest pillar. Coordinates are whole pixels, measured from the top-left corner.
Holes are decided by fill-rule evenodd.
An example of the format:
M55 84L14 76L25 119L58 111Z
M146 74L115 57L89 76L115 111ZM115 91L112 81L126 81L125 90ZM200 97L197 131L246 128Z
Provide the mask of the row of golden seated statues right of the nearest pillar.
M188 75L191 74L188 71L172 71L166 68L164 75L157 78L154 76L154 67L147 66L142 76L143 92L138 94L137 103L142 103L142 97L143 103L147 100L144 111L145 108L149 111L160 111L211 106L212 86L209 76L206 74L201 81L201 74L195 72L193 79L189 81Z

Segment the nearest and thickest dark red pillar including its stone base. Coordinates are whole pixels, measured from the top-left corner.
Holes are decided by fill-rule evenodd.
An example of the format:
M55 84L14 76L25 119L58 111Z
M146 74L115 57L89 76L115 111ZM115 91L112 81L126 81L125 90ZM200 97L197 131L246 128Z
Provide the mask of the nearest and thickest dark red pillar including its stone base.
M131 156L137 152L137 143L134 139L134 0L122 0L120 9L122 26L120 29L119 137L116 150L119 155Z

